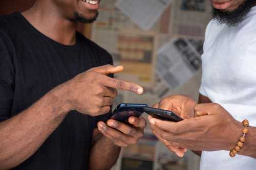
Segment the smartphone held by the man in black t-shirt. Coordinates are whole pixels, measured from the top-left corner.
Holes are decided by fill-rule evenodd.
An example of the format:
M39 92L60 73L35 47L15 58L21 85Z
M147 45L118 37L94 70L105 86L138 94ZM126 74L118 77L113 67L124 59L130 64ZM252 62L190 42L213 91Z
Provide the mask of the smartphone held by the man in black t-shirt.
M119 122L124 124L130 124L128 122L129 117L140 117L143 112L144 108L148 107L146 104L119 104L116 109L113 111L111 115L111 119L115 119Z

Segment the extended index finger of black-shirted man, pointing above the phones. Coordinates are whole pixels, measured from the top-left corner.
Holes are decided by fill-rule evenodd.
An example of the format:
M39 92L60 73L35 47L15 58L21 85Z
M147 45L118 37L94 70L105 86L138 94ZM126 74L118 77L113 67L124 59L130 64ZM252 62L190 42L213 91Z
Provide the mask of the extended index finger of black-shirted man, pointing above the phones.
M123 80L113 79L113 78L109 78L109 77L106 81L103 82L103 85L106 87L112 87L112 88L116 88L119 90L132 91L137 94L143 93L143 88L135 83L126 82Z

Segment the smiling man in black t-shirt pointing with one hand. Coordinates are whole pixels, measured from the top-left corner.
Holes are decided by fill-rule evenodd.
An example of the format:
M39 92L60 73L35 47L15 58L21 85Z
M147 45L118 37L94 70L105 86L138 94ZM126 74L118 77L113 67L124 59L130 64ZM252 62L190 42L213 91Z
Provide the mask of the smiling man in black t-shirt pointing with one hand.
M110 169L143 135L143 118L105 123L117 89L143 89L113 79L123 67L75 31L98 6L38 0L0 17L0 169Z

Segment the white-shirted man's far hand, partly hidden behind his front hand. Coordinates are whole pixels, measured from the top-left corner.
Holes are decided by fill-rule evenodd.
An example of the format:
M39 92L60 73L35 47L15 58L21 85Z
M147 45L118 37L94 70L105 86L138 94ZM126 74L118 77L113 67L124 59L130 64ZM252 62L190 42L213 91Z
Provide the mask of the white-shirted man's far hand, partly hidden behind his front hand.
M194 107L197 103L187 96L184 95L172 95L162 99L159 103L155 104L154 108L160 108L164 110L170 110L180 115L182 118L194 117ZM148 116L151 119L151 116ZM172 152L176 153L179 157L183 157L184 153L187 152L185 148L175 147L172 142L163 139L155 130L154 125L151 125L153 133L157 138L164 143L164 145Z

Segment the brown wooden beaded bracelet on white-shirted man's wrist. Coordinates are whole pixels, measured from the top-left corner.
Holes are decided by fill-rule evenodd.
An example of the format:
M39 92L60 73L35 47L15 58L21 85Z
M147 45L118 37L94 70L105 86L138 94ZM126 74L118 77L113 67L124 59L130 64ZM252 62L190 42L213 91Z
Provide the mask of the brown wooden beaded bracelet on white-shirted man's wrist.
M243 120L243 126L244 126L244 129L242 130L243 132L243 135L239 138L239 141L236 145L236 147L234 147L230 152L229 152L229 156L230 157L234 157L237 155L237 153L241 150L241 148L243 147L244 145L244 142L245 142L245 135L248 133L248 127L249 127L249 121L248 120Z

